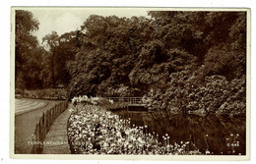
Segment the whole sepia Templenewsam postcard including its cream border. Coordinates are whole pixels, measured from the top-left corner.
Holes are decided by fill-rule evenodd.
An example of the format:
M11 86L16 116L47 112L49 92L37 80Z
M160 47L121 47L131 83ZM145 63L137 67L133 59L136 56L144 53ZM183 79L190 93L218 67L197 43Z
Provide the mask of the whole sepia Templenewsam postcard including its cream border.
M248 159L248 24L249 9L13 7L11 154Z

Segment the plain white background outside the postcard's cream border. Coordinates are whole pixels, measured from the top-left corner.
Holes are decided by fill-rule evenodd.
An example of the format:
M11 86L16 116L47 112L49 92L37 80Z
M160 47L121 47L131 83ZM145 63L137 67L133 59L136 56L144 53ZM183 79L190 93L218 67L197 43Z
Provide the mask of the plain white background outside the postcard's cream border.
M146 3L147 2L147 3ZM113 0L110 1L104 1L102 2L102 0L98 1L98 0L94 0L94 1L80 1L80 0L76 0L76 1L68 1L68 0L62 0L62 1L30 1L30 0L26 0L26 1L22 1L22 0L13 0L12 2L4 2L3 5L1 4L1 15L2 13L4 13L4 16L1 17L2 18L2 25L1 30L3 33L3 36L0 38L1 39L1 60L0 60L0 71L1 71L1 76L3 76L3 78L1 77L0 82L1 82L1 92L0 92L0 101L2 102L2 117L0 119L0 125L1 125L1 142L0 142L0 162L12 162L12 163L24 163L24 160L13 160L10 159L9 157L9 126L7 126L7 123L9 123L9 91L10 91L10 56L8 56L8 54L10 54L10 7L11 6L147 6L147 7L247 7L247 8L252 8L252 14L253 14L253 9L255 9L255 3L253 2L253 0L241 0L241 1L232 1L232 0L225 0L225 1L220 1L220 0L191 0L191 1L184 1L184 0L179 0L179 1L152 1L152 0L148 0L148 1L136 1L136 0L130 0L130 1L122 1L122 2L116 2ZM253 16L252 16L253 18ZM254 26L254 22L252 21L252 29ZM252 35L253 35L253 30L251 31ZM252 37L254 38L254 37ZM8 41L9 40L9 41ZM252 43L253 43L253 39L252 39ZM4 47L2 49L2 47ZM255 50L254 47L252 47L252 54L253 54L253 50ZM253 56L251 56L251 63L255 63L255 59ZM251 79L252 79L252 83L254 83L254 65L252 65L251 69L252 69L252 75L251 75ZM255 93L255 89L252 86L252 97L254 97L254 93ZM253 100L253 98L252 98ZM255 103L252 102L251 107L253 108L255 105ZM255 116L255 112L251 111L251 117L254 118ZM255 131L253 131L253 127L254 127L255 121L252 119L252 132L251 132L251 136L252 139L251 140L251 153L253 154L253 152L255 152L255 149L253 146L254 144L254 137L255 137ZM4 133L2 133L4 132ZM252 156L252 160L250 162L255 162L254 157ZM38 163L45 163L46 161L41 161L41 160L27 160L26 163L34 163L34 162L38 162ZM47 162L52 162L52 161L47 161ZM54 163L68 163L69 161L54 161ZM76 161L76 163L82 163L83 161ZM115 162L120 162L120 161L87 161L87 163L115 163ZM126 163L125 161L122 161L123 163ZM131 162L131 161L129 161ZM133 163L137 163L137 162L145 162L145 161L132 161ZM147 163L151 163L155 161L146 161ZM145 163L146 163L145 162ZM52 162L53 163L53 162ZM83 162L84 163L84 162ZM161 162L161 163L165 163L165 162ZM181 162L184 163L184 162ZM220 163L220 162L218 162ZM222 163L222 162L221 162ZM245 163L245 162L240 162L240 163ZM248 162L246 162L248 163Z

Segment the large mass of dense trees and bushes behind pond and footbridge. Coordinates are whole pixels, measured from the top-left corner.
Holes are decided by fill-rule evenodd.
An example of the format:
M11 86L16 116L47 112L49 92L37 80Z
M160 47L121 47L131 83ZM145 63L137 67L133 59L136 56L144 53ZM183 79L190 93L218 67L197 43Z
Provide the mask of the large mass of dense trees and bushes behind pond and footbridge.
M229 98L227 105L235 109L227 111L244 111L245 89L233 97L230 83L245 83L245 13L149 15L151 19L93 15L84 23L80 49L68 62L71 97L148 94L156 109L216 113L225 111L224 99Z

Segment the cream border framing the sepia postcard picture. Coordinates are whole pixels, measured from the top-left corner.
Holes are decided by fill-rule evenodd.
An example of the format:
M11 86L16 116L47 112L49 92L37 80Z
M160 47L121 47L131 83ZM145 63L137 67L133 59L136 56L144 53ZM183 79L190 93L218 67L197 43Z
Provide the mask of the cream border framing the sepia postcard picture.
M12 8L12 28L13 31L15 31L15 10L26 10L26 9L36 9L37 7L13 7ZM40 8L43 10L46 10L48 8ZM76 10L76 9L81 9L81 8L64 8L64 7L52 7L51 9L55 9L55 10ZM138 10L146 10L146 11L246 11L247 12L247 63L250 62L250 47L249 47L249 43L250 43L250 10L249 9L226 9L226 8L83 8L85 10L92 10L92 11L97 11L97 10L115 10L115 11L125 11L125 12L133 12L133 11L138 11ZM11 53L11 150L10 150L10 155L12 158L34 158L34 159L38 159L38 158L52 158L52 159L96 159L96 158L100 158L100 159L126 159L126 160L248 160L249 156L250 156L250 141L246 141L246 156L230 156L230 155L212 155L212 156L206 156L206 155L194 155L194 156L186 156L186 155L171 155L171 156L166 156L166 155L71 155L71 154L65 154L65 155L33 155L33 154L23 154L23 155L18 155L18 154L14 154L14 120L15 120L15 109L14 109L14 81L15 81L15 77L14 77L14 72L15 70L13 69L15 66L15 53L14 53L14 48L15 48L15 33L12 32L12 53ZM248 81L248 79L250 79L250 65L247 65L247 97L250 95L249 91L250 91L250 87L249 83L250 81ZM247 99L246 102L247 105L247 115L246 115L246 130L249 130L250 127L250 108L248 108L248 106L250 106L250 101L249 99ZM250 140L249 138L249 133L250 131L246 131L246 140Z

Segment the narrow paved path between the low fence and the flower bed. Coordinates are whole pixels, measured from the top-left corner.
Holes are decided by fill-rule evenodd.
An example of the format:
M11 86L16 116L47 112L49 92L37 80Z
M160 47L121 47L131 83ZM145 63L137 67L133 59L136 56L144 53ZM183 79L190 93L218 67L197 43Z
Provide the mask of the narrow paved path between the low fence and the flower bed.
M72 107L72 104L69 104L68 109L60 114L51 125L44 140L43 154L71 154L67 137L67 122L71 113L69 109Z

